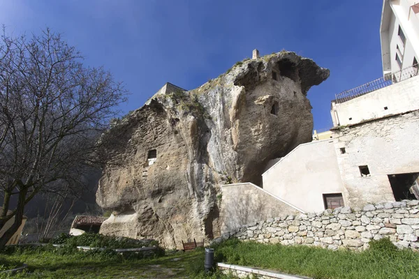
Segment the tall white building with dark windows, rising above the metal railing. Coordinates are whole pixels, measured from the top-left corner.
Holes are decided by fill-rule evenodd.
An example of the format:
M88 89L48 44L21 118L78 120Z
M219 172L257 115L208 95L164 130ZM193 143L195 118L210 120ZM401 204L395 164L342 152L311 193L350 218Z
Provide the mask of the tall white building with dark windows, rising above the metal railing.
M409 68L413 61L418 61L419 1L383 0L380 35L383 75Z

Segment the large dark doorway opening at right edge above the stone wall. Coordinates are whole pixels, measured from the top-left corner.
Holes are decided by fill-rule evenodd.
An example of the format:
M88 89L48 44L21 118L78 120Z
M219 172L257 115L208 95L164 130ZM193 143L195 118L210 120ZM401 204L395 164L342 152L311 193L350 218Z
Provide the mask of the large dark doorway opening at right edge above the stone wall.
M403 199L419 199L419 172L389 174L388 180L397 202Z

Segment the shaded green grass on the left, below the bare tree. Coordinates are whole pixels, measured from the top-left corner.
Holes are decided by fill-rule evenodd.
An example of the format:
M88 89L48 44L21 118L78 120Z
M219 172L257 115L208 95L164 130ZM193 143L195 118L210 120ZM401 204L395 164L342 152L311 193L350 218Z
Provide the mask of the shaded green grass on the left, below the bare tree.
M82 252L68 248L10 248L0 252L1 263L26 263L29 269L0 278L228 278L206 275L204 250L173 252L162 257L124 259L107 252Z

